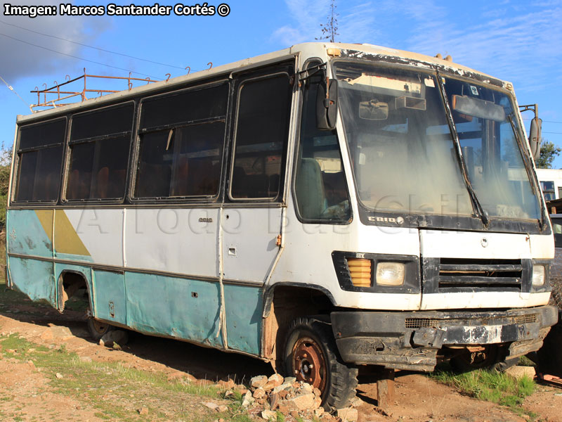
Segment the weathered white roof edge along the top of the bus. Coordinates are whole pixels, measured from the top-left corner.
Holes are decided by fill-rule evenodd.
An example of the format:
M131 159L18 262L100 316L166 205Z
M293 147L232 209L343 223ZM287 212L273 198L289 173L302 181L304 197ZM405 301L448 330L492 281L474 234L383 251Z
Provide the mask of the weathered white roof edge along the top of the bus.
M168 80L162 80L159 82L154 82L150 84L143 85L141 87L135 87L132 89L126 89L124 91L119 91L114 94L108 94L104 96L98 96L95 98L89 98L85 101L78 103L70 103L63 106L57 106L48 110L41 110L37 113L31 115L18 115L17 123L22 124L26 122L32 122L33 120L44 120L46 117L59 114L65 114L72 110L79 108L91 108L94 105L103 106L106 103L113 103L119 99L126 100L138 94L145 93L148 94L152 91L161 91L166 87L174 87L175 85L185 84L186 82L195 82L199 79L207 79L209 77L218 76L221 74L228 74L231 72L236 72L240 68L251 68L258 65L264 65L267 63L273 63L282 58L290 58L292 56L304 56L309 57L327 57L327 49L340 49L344 56L352 55L354 58L363 58L369 56L379 56L384 58L395 59L397 62L403 64L417 65L427 68L433 68L436 65L443 70L449 70L457 74L463 75L464 73L476 74L485 79L493 79L497 82L501 82L502 85L509 84L509 82L501 81L497 78L485 75L482 72L467 68L466 66L459 65L457 63L452 63L452 61L445 60L443 58L426 56L420 53L413 53L411 51L404 51L398 49L391 49L383 46L375 46L372 44L346 44L346 43L327 43L327 42L306 42L302 44L295 44L288 49L282 49L279 51L273 51L272 53L262 54L261 56L254 56L251 58L245 58L243 60L238 60L234 63L228 63L226 65L220 65L216 68L210 68L206 70L200 70L198 72L190 73L188 75L182 75Z

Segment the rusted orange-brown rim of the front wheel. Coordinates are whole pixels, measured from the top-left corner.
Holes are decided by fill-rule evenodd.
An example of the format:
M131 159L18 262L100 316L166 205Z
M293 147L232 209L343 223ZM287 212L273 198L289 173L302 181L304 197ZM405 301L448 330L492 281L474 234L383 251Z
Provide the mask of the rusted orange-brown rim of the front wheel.
M304 381L324 391L326 361L320 345L309 337L299 338L293 347L293 373L297 381Z

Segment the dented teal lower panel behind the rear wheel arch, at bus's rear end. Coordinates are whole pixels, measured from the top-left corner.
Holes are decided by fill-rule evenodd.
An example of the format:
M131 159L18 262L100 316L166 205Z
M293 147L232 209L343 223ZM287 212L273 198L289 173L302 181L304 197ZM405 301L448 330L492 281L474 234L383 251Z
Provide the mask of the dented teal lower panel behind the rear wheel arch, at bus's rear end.
M31 300L57 306L53 262L8 257L13 286Z

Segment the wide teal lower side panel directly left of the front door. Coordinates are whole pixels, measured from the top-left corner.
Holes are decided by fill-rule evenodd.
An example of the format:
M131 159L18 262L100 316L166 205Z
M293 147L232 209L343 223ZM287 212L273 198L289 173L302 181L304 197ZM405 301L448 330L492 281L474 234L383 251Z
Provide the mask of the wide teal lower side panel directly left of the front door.
M125 291L131 328L222 347L218 283L126 272Z

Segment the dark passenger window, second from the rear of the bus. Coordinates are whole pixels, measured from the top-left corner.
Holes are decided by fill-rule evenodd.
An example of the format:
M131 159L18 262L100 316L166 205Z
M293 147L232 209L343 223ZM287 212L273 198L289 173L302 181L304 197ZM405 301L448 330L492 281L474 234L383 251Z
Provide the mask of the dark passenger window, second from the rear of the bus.
M133 103L72 118L67 200L125 196Z

